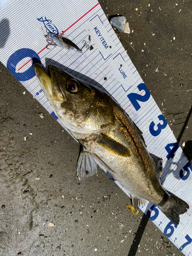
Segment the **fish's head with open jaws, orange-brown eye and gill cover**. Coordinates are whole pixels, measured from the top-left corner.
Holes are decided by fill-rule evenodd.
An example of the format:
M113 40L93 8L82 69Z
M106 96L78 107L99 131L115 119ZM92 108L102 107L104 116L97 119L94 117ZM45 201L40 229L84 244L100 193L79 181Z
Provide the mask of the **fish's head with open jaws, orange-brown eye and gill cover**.
M99 107L94 108L99 104L101 109L105 108L104 103L100 102L102 95L98 95L96 89L54 65L48 66L49 75L39 63L35 63L33 67L41 89L55 114L70 131L95 132L105 125L110 115L108 111L100 112ZM98 121L99 115L106 115L102 116L101 122Z

